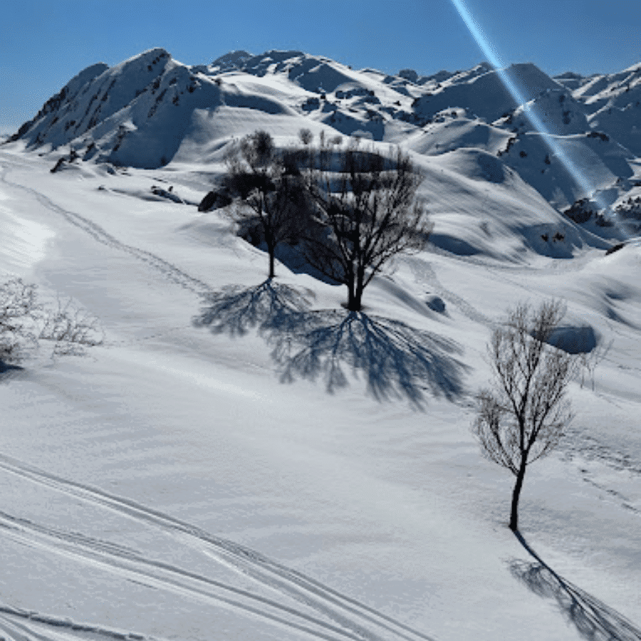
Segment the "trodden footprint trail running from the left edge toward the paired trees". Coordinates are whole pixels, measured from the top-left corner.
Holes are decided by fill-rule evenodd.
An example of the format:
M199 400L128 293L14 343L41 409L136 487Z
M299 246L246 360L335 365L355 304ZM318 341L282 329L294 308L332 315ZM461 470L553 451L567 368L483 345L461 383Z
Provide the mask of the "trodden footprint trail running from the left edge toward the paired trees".
M70 212L68 211L68 209L59 207L44 194L36 191L36 189L25 187L24 185L17 182L11 182L6 178L7 171L8 169L5 168L2 174L0 174L1 182L4 182L11 187L24 189L24 191L33 195L33 197L35 197L38 202L43 205L43 207L46 207L46 209L49 209L51 212L60 214L64 219L66 219L67 222L78 227L79 229L82 229L83 231L85 231L85 233L92 236L93 239L95 239L99 243L107 245L113 249L125 251L127 254L130 254L130 256L134 256L136 259L144 261L152 268L161 271L165 276L167 276L167 278L170 278L171 281L174 281L174 283L177 283L178 285L184 287L185 289L188 289L189 291L197 294L213 291L213 288L207 285L207 283L199 281L198 278L194 278L193 276L189 276L189 274L185 273L181 269L178 269L175 265L172 265L171 263L165 261L165 259L160 258L160 256L156 256L150 251L145 251L145 249L139 249L135 246L127 245L116 239L115 236L109 234L100 225L96 224L90 219L80 216L80 214Z

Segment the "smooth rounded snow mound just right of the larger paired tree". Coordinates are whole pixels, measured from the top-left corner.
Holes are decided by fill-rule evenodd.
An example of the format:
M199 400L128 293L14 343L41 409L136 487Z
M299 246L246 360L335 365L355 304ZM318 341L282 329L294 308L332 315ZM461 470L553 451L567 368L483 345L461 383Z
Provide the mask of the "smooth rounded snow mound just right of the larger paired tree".
M531 252L570 258L593 243L501 158L464 148L413 158L434 221L430 243L439 249L522 261Z

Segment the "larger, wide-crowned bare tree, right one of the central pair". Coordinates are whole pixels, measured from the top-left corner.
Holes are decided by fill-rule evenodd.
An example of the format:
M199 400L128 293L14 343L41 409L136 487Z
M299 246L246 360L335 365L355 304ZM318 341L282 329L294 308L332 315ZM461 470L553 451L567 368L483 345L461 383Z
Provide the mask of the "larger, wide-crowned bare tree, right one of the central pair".
M348 310L360 311L375 274L393 256L422 249L432 224L415 199L421 178L407 155L383 156L358 144L339 153L336 145L339 140L321 135L306 167L316 206L316 224L304 236L306 257L346 285Z

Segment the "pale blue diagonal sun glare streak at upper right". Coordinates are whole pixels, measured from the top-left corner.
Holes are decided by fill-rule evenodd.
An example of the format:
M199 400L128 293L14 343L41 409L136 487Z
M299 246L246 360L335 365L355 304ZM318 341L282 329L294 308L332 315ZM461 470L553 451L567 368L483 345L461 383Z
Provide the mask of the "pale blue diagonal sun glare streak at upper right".
M532 105L527 103L525 96L521 93L521 90L519 90L514 81L510 78L509 73L507 73L505 69L504 63L500 60L499 56L496 55L494 48L486 38L481 26L470 14L469 9L467 9L467 6L465 6L463 0L452 0L452 4L454 5L454 8L459 12L459 16L461 16L462 20L465 23L465 26L467 26L469 32L476 41L476 44L479 46L481 51L483 51L489 63L494 66L496 73L499 75L501 83L504 84L505 88L509 91L512 98L514 98L514 102L516 102L517 105L523 106L523 115L530 121L531 125L541 135L543 142L546 143L549 150L551 150L553 155L555 155L555 157L557 157L558 160L563 163L563 167L565 167L570 176L573 177L575 183L578 185L583 194L593 199L598 204L598 207L600 207L600 209L604 209L606 215L614 218L615 216L610 207L608 207L608 205L603 202L598 194L595 194L594 185L591 184L588 179L586 179L586 177L574 164L565 150L563 150L563 147L558 144L556 138L551 134L551 132L546 129L546 126L543 124L543 121L541 120L541 118L539 118ZM621 228L619 227L619 229ZM623 230L621 229L621 231ZM623 233L625 234L625 231L623 231Z

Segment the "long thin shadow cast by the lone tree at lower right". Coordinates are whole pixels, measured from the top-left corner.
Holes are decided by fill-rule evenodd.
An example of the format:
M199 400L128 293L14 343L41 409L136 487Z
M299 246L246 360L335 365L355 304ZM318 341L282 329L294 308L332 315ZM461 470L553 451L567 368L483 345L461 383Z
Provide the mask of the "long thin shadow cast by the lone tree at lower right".
M510 572L533 593L555 599L582 637L589 641L641 641L639 627L558 575L528 546L521 533L516 532L516 538L536 561L515 559L510 562Z

